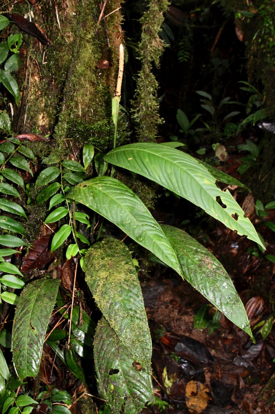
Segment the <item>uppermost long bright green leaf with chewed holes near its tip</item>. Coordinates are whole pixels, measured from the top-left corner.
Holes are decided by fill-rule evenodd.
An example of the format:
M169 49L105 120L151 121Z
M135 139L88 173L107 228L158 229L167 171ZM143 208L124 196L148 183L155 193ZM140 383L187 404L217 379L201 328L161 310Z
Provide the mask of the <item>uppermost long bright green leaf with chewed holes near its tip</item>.
M160 144L137 143L113 149L104 160L168 188L231 230L237 230L240 236L246 235L263 246L251 221L244 217L243 210L229 191L220 190L215 184L216 178L189 154ZM217 202L217 197L226 207Z

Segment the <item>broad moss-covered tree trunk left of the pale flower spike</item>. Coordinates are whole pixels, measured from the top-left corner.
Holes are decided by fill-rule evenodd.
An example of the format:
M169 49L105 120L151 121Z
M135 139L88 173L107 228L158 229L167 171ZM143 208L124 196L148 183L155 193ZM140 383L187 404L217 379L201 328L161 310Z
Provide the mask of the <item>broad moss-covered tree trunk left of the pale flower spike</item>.
M45 30L52 48L24 34L30 47L21 55L25 84L14 120L17 132L35 129L52 134L59 144L108 146L123 33L120 2L108 1L102 15L101 10L97 0L45 0L33 7L33 21ZM25 14L28 6L13 11Z

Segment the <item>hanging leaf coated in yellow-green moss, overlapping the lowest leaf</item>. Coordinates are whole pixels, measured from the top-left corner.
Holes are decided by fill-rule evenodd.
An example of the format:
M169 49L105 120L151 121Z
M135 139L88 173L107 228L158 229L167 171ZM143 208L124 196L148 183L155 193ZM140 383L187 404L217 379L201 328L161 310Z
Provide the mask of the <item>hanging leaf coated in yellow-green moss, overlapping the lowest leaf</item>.
M149 371L150 331L128 248L115 238L105 238L92 246L85 258L85 280L97 306L135 360Z

